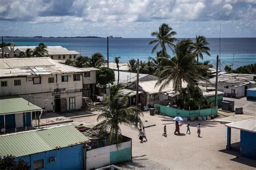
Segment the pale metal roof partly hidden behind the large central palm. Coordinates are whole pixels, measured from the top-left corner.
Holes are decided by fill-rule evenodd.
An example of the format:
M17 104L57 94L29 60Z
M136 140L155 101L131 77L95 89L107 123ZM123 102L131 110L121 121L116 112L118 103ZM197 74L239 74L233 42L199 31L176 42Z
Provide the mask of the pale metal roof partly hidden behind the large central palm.
M139 86L142 88L143 91L145 91L148 94L156 94L156 93L159 93L159 89L161 87L161 86L156 86L156 83L157 83L157 80L142 81L142 82L139 82ZM186 87L187 83L183 82L182 86ZM165 91L174 92L172 82L170 82L168 86L165 86L165 88L162 89L160 92L165 92Z

